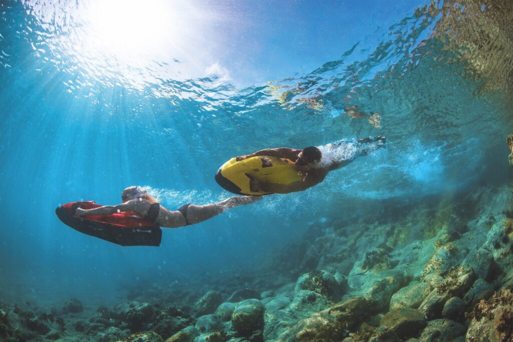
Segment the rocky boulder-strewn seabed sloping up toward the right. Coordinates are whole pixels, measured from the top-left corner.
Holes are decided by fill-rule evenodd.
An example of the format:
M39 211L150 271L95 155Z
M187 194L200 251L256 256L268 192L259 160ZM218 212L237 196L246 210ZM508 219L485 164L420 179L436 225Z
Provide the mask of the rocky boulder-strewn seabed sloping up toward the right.
M328 218L260 269L132 288L114 307L2 303L0 339L511 341L512 204L511 185L483 186Z

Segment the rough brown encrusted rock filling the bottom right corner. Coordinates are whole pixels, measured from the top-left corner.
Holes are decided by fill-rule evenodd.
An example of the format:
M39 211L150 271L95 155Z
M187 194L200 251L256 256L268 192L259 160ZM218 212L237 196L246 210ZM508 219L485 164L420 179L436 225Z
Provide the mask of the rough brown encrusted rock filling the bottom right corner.
M471 313L469 341L513 340L513 290L503 290L479 302Z

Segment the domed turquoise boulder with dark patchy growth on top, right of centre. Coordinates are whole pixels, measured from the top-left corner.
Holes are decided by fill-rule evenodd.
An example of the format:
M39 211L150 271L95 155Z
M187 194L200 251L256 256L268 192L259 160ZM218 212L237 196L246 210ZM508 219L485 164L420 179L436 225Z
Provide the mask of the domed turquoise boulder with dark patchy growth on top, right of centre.
M294 292L298 293L301 290L319 293L330 300L340 300L343 287L331 273L324 270L315 270L298 278Z

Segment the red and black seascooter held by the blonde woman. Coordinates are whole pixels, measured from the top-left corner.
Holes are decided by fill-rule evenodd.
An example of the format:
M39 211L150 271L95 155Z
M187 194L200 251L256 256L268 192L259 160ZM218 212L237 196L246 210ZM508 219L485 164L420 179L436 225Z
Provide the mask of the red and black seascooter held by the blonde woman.
M55 209L57 217L81 233L99 237L121 246L160 246L162 230L159 226L135 217L132 213L75 216L77 208L101 207L92 200L70 202Z

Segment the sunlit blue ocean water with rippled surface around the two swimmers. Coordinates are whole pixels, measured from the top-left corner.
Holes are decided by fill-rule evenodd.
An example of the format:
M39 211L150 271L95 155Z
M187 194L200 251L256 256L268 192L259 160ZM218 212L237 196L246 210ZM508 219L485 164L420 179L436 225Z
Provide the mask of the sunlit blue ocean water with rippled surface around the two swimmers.
M510 187L509 1L7 1L0 13L4 305L254 288L312 227ZM323 183L164 228L158 248L54 213L119 204L131 185L169 209L218 202L231 194L214 175L233 156L378 135L386 149Z

